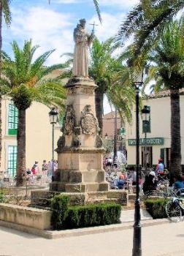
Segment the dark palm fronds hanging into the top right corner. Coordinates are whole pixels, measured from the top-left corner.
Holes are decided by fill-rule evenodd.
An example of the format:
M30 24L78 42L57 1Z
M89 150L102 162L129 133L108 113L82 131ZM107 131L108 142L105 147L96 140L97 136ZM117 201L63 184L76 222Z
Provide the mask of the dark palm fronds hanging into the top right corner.
M118 41L134 35L134 59L144 55L162 34L164 27L184 7L183 0L139 1L118 31Z

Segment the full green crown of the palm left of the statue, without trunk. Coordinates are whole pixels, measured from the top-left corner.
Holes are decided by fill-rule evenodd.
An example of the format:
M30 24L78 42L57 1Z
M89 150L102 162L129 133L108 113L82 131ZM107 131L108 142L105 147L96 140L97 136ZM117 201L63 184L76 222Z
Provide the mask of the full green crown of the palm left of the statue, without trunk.
M32 47L31 43L31 40L25 41L23 49L21 49L17 42L12 42L13 59L7 53L3 53L1 94L8 95L18 109L26 110L33 101L42 102L47 106L55 105L63 109L66 90L62 86L61 80L46 78L46 75L55 69L64 68L66 65L43 66L53 50L43 53L32 63L38 46Z

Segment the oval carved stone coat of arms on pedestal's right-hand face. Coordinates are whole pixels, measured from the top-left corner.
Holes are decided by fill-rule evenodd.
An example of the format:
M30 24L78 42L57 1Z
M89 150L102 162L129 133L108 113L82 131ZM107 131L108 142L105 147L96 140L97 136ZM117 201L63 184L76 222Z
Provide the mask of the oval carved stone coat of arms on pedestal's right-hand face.
M91 105L86 105L83 112L82 117L80 119L80 125L85 135L93 135L98 132L99 124L93 112L91 110Z

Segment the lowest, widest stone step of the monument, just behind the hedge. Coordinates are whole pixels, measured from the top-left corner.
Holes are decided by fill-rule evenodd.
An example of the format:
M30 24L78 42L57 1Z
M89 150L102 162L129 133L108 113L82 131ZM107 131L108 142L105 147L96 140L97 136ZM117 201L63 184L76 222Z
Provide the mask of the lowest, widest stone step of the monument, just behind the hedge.
M31 191L31 205L49 207L50 198L52 198L54 195L68 195L70 198L70 205L83 206L89 203L116 202L123 206L127 206L129 194L127 190L109 190L85 193L33 190Z

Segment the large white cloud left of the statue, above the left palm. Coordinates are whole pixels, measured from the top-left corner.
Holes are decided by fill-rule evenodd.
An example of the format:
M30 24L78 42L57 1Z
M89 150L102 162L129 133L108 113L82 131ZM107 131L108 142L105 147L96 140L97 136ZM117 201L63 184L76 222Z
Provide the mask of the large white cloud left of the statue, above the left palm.
M33 39L34 45L40 45L37 56L46 50L56 49L47 61L47 65L61 62L61 54L71 52L73 38L70 15L55 12L42 7L33 7L25 15L25 10L13 10L11 30L18 39Z

